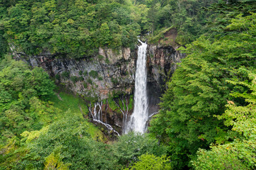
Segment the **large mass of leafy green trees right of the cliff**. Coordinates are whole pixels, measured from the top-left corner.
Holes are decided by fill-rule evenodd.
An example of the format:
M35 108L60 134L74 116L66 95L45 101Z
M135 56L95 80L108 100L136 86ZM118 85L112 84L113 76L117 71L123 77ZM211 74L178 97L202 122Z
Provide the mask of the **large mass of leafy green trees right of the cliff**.
M234 9L230 15L238 13L235 9L240 6L232 5L228 6ZM255 133L251 130L245 136L245 124L254 124L255 102L256 14L249 12L255 10L255 3L249 5L233 19L218 18L226 18L228 23L216 24L213 28L222 29L213 37L201 36L179 49L188 56L174 72L160 114L150 127L150 132L169 145L173 164L179 169L191 166L191 159L196 169L255 167L255 146L247 147L248 141L255 142ZM226 6L216 10L226 11Z

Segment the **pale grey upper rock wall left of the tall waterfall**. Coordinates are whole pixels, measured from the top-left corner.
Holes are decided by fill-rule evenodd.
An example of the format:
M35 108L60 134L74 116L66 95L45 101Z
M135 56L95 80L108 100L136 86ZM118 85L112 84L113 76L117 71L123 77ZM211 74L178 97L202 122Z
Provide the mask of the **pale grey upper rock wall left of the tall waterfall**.
M118 52L99 49L96 57L81 59L60 59L50 54L25 57L21 53L16 58L26 60L32 67L43 67L58 84L82 96L103 100L117 91L132 93L135 54L129 48Z

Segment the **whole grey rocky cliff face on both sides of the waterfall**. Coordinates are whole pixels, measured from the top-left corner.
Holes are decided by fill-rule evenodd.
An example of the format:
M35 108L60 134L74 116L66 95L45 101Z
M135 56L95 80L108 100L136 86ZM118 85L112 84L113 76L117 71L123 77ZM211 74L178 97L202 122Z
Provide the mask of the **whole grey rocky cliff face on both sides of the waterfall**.
M159 110L157 104L165 83L176 69L177 62L184 57L176 49L148 45L149 115ZM28 57L18 52L14 56L16 60L26 60L32 67L43 67L51 77L55 77L57 84L82 96L90 111L86 116L96 120L93 115L100 115L101 123L95 123L108 123L118 133L122 132L133 113L137 49L113 51L100 48L99 55L82 59L62 59L50 54ZM101 102L95 104L97 101Z

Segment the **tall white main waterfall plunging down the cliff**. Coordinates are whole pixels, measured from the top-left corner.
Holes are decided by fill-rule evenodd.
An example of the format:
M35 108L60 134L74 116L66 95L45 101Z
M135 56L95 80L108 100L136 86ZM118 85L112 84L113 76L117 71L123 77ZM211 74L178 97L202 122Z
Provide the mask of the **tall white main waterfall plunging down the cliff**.
M148 121L148 96L147 96L147 43L141 42L138 47L138 60L135 73L134 110L130 116L125 132L133 130L144 133Z

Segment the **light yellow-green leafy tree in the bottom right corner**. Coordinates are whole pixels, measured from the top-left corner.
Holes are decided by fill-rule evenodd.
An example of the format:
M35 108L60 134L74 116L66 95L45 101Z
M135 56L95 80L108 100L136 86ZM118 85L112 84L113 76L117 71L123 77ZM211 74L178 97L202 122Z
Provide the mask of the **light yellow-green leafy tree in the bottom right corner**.
M243 96L249 104L236 106L235 103L230 102L226 105L228 110L218 116L219 119L224 120L225 125L232 127L232 132L229 134L233 141L223 145L211 145L211 150L199 149L196 159L192 161L195 169L255 169L256 74L244 71L249 73L251 83L247 81L230 81L230 83L250 87L250 92L233 93L237 97Z

